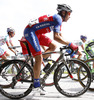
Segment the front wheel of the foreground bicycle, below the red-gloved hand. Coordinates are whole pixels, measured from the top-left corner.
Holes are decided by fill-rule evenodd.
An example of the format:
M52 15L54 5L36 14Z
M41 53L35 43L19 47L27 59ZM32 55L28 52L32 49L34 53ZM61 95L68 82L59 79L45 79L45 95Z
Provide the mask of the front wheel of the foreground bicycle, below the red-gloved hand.
M58 68L55 71L54 83L56 88L61 94L73 97L84 93L84 91L86 91L86 89L89 88L91 80L90 80L90 72L88 68L84 66L84 64L81 64L80 61L75 61L75 60L73 60L73 63L71 62L72 61L70 61L67 64L67 66L64 63L61 63L58 66ZM80 67L82 68L80 69ZM79 69L80 71L78 73ZM85 85L85 88L79 82L82 80L83 76L82 72L85 74L85 76L87 76L85 82L83 83Z

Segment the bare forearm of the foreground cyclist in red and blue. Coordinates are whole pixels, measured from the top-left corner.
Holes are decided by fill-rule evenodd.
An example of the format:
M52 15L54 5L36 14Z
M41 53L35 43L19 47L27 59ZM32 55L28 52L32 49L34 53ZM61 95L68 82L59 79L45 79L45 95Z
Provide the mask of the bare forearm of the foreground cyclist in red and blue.
M61 44L65 44L65 45L69 44L68 41L64 41L61 33L54 32L54 40Z

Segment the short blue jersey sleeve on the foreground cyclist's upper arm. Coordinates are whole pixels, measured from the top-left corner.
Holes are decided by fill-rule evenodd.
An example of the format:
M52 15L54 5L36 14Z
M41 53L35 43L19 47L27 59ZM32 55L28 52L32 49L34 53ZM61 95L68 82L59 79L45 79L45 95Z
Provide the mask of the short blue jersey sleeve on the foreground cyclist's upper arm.
M62 25L62 18L60 15L58 14L55 14L53 16L53 19L54 19L54 32L57 32L57 33L60 33L61 31L61 25Z

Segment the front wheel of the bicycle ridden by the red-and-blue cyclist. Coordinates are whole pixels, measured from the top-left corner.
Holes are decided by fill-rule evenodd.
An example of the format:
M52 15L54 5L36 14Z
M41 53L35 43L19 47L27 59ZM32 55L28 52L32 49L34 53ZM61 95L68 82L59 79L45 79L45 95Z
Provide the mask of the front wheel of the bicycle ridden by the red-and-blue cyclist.
M87 74L87 78L86 78L86 82L85 82L85 87L83 87L79 81L75 81L73 80L73 78L78 78L78 80L80 80L80 77L78 77L78 73L76 74L69 74L68 70L66 70L66 72L61 74L61 70L62 68L68 68L67 66L70 63L74 63L75 68L80 68L80 66L85 70L86 74ZM69 69L69 68L68 68ZM69 69L70 70L70 69ZM71 71L70 71L71 72ZM64 74L69 74L70 77L67 78L62 78L62 76ZM85 93L91 83L91 75L90 75L90 71L88 69L88 67L86 66L86 64L80 60L76 60L76 59L72 59L69 60L69 63L67 65L65 65L64 63L61 63L54 74L54 83L55 83L55 87L57 88L57 90L67 96L67 97L77 97L82 95L83 93Z

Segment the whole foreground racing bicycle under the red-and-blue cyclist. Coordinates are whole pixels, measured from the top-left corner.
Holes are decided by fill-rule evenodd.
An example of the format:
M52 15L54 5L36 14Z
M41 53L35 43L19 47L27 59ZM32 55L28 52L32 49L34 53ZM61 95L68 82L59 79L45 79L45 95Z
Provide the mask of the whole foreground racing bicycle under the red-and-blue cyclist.
M13 77L12 76L9 77L9 79L11 79L11 81L10 81L11 87L8 89L3 88L2 86L0 87L1 94L8 98L11 98L11 99L23 98L23 97L27 96L33 89L33 81L34 81L33 57L31 56L31 53L29 51L29 47L28 47L27 43L26 43L26 46L27 46L29 57L32 58L31 66L27 62L22 61L22 60L10 60L1 66L1 70L0 70L1 74L7 66L11 66L14 63L17 64L18 66L21 66L21 69L17 73L17 75L15 75ZM89 68L87 67L87 65L84 62L82 62L78 59L65 59L65 56L70 55L70 54L64 53L64 50L66 50L66 49L71 49L71 48L66 47L66 46L60 48L60 51L57 52L60 54L59 58L50 67L50 69L47 71L47 73L45 73L43 75L43 77L40 79L40 82L41 82L41 86L44 87L44 83L45 83L47 77L55 69L53 79L54 79L54 85L55 85L56 89L61 94L65 95L67 97L77 97L77 96L84 94L88 90L88 88L91 84L91 75L90 75ZM49 53L45 53L45 54L51 54L51 53L56 53L56 52L54 51L54 52L49 52ZM70 72L70 70L68 68L68 65L70 63L73 63L78 68L82 67L84 69L84 71L87 73L87 78L86 78L87 81L85 81L85 84L86 84L85 87L82 87L80 85L79 81L73 80L73 77L75 77L75 76L72 75L72 73ZM26 70L27 75L31 76L30 78L25 79L22 77L22 72L24 69ZM11 74L11 73L8 73L8 74ZM62 76L64 74L69 74L70 77L62 78ZM79 78L79 80L80 80L80 78ZM63 81L63 84L62 84L62 81ZM11 90L12 90L12 92L11 92Z

